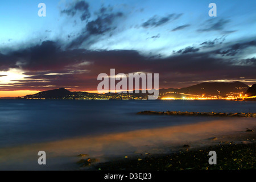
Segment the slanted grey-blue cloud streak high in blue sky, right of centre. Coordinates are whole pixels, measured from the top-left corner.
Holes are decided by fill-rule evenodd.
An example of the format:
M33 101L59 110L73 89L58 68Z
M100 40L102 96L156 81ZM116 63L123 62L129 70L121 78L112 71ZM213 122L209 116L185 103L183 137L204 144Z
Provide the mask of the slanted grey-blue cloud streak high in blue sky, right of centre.
M165 17L158 17L158 16L153 16L152 18L148 19L146 22L142 23L143 28L150 28L150 27L158 27L161 26L167 22L171 22L173 20L176 20L180 18L180 16L183 14L170 14Z

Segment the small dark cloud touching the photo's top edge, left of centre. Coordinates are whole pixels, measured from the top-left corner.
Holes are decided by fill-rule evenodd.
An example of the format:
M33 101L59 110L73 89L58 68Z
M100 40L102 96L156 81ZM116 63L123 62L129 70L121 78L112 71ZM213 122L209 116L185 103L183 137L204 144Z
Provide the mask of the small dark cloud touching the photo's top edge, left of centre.
M80 18L82 21L90 18L89 4L85 1L79 1L71 5L68 9L61 11L62 14L69 16L75 16L78 12L81 14Z

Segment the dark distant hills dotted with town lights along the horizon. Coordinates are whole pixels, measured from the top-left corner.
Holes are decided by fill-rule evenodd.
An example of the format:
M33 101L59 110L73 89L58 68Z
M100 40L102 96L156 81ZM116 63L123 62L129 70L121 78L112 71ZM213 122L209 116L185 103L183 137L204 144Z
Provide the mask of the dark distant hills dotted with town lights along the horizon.
M182 94L192 94L192 95L197 95L197 96L202 96L204 95L205 97L207 96L221 96L221 97L226 97L227 94L234 93L234 94L239 94L239 93L246 93L248 89L248 94L255 94L255 87L252 86L249 88L248 85L243 84L242 82L236 81L236 82L204 82L201 84L193 85L193 86L188 86L186 88L181 88L181 89L174 89L174 88L169 88L169 89L160 89L159 93L160 95L164 95L164 97L182 97ZM172 92L172 93L168 93ZM127 93L133 96L141 96L141 97L146 97L148 94L141 93L141 90L138 94L136 93ZM71 92L65 88L60 88L60 89L54 89L54 90L48 90L48 91L43 91L39 92L36 94L32 95L27 95L24 97L17 97L17 98L24 98L24 99L30 99L30 98L44 98L44 99L75 99L75 98L97 98L101 94L97 93L88 93L88 92ZM117 93L106 93L105 96L113 96L117 95Z

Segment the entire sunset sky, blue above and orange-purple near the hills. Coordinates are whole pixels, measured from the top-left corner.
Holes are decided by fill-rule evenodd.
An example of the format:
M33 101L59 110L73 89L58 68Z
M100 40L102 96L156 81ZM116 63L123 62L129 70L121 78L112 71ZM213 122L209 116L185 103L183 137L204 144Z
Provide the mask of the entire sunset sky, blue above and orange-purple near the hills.
M38 16L39 3L46 16ZM209 16L216 3L217 16ZM159 73L159 88L256 82L256 1L0 2L0 97L66 88L97 76Z

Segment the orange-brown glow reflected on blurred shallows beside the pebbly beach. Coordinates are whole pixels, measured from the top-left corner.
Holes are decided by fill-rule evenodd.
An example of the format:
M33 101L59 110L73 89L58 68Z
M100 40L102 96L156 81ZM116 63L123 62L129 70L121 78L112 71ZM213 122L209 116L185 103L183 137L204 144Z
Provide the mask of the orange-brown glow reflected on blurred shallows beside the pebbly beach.
M90 158L101 162L113 156L166 153L178 150L183 144L192 147L208 145L214 141L210 137L225 134L239 135L245 128L255 128L253 118L234 118L199 122L181 126L168 126L156 129L143 129L121 133L101 134L80 138L58 140L55 142L27 144L0 149L1 169L64 170L78 169L79 154L89 154ZM192 143L192 144L191 144ZM159 147L160 146L160 147ZM37 163L38 151L46 151L47 166Z

